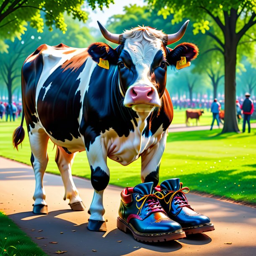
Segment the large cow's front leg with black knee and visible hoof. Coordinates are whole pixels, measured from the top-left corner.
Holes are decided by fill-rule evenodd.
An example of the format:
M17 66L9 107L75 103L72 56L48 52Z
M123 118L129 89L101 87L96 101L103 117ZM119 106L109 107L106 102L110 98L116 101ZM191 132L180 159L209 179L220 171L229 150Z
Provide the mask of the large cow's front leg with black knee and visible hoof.
M91 144L87 157L91 168L91 185L94 195L89 209L91 214L87 228L92 231L107 231L103 217L105 209L103 206L103 192L110 180L110 171L107 167L107 154L100 140Z

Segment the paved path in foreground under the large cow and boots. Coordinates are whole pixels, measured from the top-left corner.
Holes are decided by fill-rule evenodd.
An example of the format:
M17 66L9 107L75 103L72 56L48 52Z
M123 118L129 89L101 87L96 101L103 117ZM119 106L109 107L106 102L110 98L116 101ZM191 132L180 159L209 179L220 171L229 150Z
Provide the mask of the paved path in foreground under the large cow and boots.
M103 234L87 230L87 209L93 189L88 180L74 178L74 181L86 211L71 211L68 202L63 201L64 187L60 176L45 174L44 186L50 213L34 215L31 213L35 186L32 168L0 157L0 210L8 214L48 255L57 255L55 251L58 250L68 251L65 256L256 255L255 208L190 193L190 204L211 218L215 230L178 241L145 244L116 228L121 188L111 185L104 193L108 232ZM37 237L44 239L38 240Z

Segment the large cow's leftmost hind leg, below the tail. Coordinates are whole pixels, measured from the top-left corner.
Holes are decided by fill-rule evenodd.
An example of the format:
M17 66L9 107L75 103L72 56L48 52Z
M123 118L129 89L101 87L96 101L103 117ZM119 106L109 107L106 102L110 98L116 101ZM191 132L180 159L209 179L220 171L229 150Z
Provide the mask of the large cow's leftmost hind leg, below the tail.
M33 196L33 213L47 214L47 204L45 201L45 191L43 186L44 172L48 163L47 144L49 136L42 128L34 128L29 132L29 142L31 147L31 164L34 169L36 188Z

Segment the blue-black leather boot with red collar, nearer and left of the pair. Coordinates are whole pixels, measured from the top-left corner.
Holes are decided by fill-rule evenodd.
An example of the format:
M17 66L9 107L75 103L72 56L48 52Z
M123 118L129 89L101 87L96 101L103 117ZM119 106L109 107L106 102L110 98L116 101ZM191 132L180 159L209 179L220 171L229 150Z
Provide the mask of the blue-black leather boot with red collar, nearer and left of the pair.
M154 183L141 183L134 188L125 188L121 193L121 204L117 227L143 242L162 242L185 237L182 227L171 220L158 199L161 192L155 192Z

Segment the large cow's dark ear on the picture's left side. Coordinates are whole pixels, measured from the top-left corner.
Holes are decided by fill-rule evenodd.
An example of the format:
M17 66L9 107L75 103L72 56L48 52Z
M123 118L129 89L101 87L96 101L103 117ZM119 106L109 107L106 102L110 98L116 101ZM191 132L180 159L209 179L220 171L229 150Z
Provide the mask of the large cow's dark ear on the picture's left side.
M118 63L118 52L108 44L100 42L91 44L88 48L88 53L97 63L99 63L99 58L108 60L111 64Z

